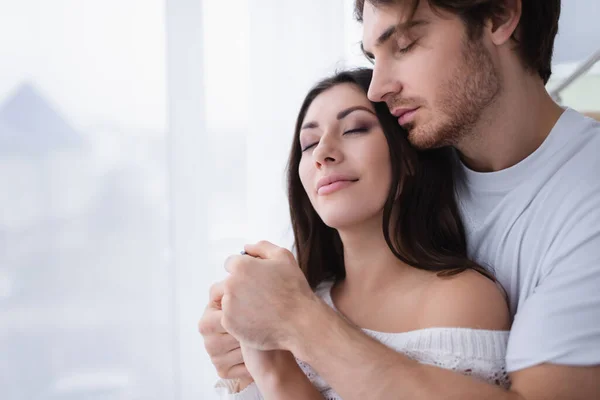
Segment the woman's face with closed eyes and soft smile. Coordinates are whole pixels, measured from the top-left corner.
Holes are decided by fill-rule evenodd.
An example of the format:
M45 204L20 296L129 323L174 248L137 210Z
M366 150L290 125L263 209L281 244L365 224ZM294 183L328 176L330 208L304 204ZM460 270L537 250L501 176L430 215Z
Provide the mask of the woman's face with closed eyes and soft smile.
M350 83L321 93L300 130L299 174L312 206L335 229L381 224L389 148L366 94Z

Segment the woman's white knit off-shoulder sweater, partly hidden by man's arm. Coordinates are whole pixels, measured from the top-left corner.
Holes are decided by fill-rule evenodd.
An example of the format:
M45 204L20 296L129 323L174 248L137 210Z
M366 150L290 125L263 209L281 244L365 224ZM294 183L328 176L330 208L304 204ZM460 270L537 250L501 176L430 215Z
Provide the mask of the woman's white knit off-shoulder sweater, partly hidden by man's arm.
M332 282L321 284L316 294L337 311L331 300ZM382 344L423 364L446 368L482 379L502 387L509 386L505 369L506 345L509 331L490 331L468 328L428 328L402 333L384 333L362 330ZM298 365L325 400L341 397L307 363ZM262 400L253 383L239 393L232 393L233 382L221 380L216 388L221 399Z

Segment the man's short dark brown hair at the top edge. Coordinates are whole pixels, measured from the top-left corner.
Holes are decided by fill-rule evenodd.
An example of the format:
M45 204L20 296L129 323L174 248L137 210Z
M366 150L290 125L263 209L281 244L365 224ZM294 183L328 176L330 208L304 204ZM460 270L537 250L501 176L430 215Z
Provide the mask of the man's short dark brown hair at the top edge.
M507 7L507 0L427 1L434 10L448 11L461 17L470 39L478 38L486 21L501 16ZM365 2L375 7L410 5L414 14L420 0L355 0L354 15L359 22L362 22ZM552 74L552 52L559 17L560 0L522 0L521 20L512 37L525 66L536 71L544 84Z

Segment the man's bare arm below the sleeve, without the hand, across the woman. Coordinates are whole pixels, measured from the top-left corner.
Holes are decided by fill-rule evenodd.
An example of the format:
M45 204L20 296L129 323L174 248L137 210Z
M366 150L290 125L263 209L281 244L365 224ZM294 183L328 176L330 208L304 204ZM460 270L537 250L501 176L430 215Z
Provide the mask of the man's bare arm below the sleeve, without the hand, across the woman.
M600 398L600 367L539 365L523 369L511 374L512 387L507 391L411 360L350 326L324 304L304 314L298 335L287 346L345 400Z

